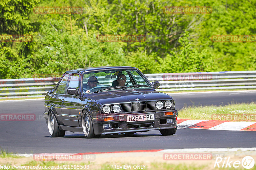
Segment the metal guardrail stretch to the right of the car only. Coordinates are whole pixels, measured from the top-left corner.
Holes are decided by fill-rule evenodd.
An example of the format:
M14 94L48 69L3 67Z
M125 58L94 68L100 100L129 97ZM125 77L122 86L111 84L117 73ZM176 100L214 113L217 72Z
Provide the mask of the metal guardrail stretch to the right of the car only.
M159 81L157 91L201 89L254 89L256 71L145 74L149 81Z

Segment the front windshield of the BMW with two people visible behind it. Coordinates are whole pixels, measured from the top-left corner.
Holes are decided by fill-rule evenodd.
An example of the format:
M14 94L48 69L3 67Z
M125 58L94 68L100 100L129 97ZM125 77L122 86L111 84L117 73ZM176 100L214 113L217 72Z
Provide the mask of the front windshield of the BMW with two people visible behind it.
M151 85L137 70L108 70L83 74L83 94L107 90L151 89ZM118 88L120 87L120 88Z

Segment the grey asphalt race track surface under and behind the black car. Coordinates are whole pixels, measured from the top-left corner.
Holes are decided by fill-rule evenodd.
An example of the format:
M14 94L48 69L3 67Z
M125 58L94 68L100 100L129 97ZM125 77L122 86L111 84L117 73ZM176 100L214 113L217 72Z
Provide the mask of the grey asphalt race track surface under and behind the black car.
M226 105L256 101L256 91L170 94L179 110L184 105ZM0 102L0 114L34 113L35 121L0 121L0 147L14 153L116 152L178 148L256 147L255 131L178 129L173 136L159 131L134 135L102 135L86 139L82 133L66 132L52 138L42 117L44 100Z

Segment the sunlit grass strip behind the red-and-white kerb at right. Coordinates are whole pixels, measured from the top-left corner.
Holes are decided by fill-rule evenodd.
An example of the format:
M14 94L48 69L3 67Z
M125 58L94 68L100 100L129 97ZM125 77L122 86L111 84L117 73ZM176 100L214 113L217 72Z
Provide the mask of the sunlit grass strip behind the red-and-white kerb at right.
M256 114L256 103L228 104L226 106L191 106L178 110L179 118L213 120L212 115ZM215 119L216 120L216 119ZM239 120L240 121L240 120ZM244 120L248 121L248 120Z

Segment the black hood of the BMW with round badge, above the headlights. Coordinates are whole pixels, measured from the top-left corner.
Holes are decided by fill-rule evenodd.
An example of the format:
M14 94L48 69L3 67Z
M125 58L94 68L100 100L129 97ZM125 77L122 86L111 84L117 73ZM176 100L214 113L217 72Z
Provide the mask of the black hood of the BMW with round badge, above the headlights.
M92 100L96 100L103 105L116 104L116 103L131 103L142 101L155 101L155 100L170 100L169 95L157 91L111 91L104 94L92 94L88 96ZM135 100L137 99L137 100ZM140 99L140 100L138 100Z

